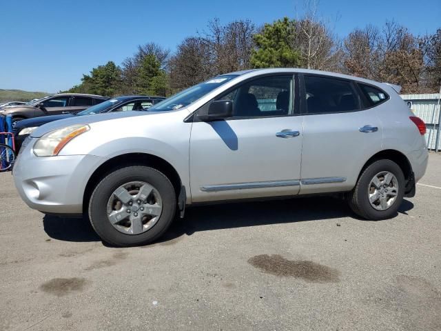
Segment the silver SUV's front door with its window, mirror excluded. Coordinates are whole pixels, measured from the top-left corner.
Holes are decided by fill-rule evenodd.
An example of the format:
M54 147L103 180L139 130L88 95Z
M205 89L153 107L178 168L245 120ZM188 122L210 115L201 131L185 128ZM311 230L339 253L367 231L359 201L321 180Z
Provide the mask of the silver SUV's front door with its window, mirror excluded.
M233 117L194 121L192 201L298 194L302 117L294 85L292 74L245 81L214 99L233 101Z

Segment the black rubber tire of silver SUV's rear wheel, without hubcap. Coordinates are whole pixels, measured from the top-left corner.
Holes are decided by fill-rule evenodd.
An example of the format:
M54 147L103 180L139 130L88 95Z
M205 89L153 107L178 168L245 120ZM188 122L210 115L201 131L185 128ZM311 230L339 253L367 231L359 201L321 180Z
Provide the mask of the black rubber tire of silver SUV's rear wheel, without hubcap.
M369 202L369 187L371 180L376 174L387 171L391 172L398 181L398 194L396 200L386 210L376 210ZM380 219L390 219L395 217L404 197L404 174L400 166L388 159L375 161L362 171L358 178L356 187L347 194L349 206L360 217L370 221L378 221Z

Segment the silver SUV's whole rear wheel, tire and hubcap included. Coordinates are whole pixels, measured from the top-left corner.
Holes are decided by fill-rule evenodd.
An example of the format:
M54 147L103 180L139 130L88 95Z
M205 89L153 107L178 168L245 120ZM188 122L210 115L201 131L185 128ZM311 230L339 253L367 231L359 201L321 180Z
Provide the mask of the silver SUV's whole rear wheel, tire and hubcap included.
M353 212L372 221L394 217L404 197L404 174L387 159L371 163L363 170L356 187L348 194Z

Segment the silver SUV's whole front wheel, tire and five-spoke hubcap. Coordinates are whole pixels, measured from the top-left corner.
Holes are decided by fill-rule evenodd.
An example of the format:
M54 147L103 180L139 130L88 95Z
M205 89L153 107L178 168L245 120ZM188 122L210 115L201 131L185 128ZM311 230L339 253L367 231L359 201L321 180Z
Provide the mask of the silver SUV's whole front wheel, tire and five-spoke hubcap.
M120 168L96 185L89 203L93 228L117 246L146 245L174 219L176 194L170 180L143 165Z

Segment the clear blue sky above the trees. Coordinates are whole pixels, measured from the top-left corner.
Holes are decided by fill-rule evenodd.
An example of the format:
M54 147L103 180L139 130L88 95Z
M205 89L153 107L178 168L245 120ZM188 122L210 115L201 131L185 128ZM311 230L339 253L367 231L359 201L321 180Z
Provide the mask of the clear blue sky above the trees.
M0 88L58 92L80 83L83 73L109 60L120 64L140 43L170 50L203 30L251 19L260 25L299 17L302 0L2 0ZM417 6L420 5L420 6ZM296 10L298 8L298 10ZM320 15L345 36L356 27L394 19L415 34L441 28L440 0L335 0L319 3Z

